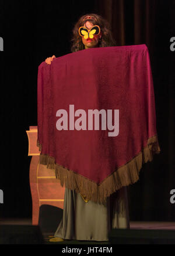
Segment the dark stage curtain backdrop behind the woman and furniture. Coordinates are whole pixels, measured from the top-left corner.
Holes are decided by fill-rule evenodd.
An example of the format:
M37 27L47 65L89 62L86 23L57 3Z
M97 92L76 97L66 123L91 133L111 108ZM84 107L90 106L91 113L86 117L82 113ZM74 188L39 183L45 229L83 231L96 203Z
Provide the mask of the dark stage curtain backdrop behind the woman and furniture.
M161 152L128 186L130 220L174 221L175 0L0 1L1 172L0 217L31 217L28 139L37 125L37 69L46 57L70 52L79 16L99 13L118 46L146 44L152 66Z

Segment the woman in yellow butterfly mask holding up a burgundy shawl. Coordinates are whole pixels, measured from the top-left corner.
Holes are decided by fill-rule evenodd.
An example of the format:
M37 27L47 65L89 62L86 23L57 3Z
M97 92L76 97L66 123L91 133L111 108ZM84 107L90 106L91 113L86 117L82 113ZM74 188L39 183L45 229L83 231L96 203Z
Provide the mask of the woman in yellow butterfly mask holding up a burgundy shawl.
M115 46L110 25L94 13L79 18L71 41L71 52ZM48 57L46 63L51 64L54 58L54 55ZM111 194L103 204L86 200L82 194L65 188L63 217L50 241L108 241L111 228L129 228L126 187Z

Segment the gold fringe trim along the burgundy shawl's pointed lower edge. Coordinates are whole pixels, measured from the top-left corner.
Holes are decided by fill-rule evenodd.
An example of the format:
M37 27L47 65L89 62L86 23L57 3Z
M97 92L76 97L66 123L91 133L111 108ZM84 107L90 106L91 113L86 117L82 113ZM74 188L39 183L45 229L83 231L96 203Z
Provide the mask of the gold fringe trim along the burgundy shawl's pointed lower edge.
M37 146L41 149L38 141ZM138 155L134 156L131 161L120 166L117 170L114 170L99 185L72 170L64 168L64 166L58 165L58 163L55 163L55 159L47 154L40 155L40 164L47 165L48 169L55 169L56 178L60 180L62 187L65 185L68 189L75 190L85 200L105 203L110 194L120 190L123 186L137 182L143 163L152 161L153 155L159 152L160 147L157 141L157 135L155 135L148 139L147 146Z

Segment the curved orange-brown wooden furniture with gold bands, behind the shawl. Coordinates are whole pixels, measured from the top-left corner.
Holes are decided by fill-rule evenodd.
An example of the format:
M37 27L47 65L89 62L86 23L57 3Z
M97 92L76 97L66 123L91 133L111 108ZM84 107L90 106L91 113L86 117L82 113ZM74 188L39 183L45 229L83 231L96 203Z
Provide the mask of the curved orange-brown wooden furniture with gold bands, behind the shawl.
M30 190L32 197L32 224L38 225L40 206L49 204L51 206L64 207L65 187L55 178L55 171L40 165L40 151L37 147L37 126L30 126L27 136L29 139L30 161Z

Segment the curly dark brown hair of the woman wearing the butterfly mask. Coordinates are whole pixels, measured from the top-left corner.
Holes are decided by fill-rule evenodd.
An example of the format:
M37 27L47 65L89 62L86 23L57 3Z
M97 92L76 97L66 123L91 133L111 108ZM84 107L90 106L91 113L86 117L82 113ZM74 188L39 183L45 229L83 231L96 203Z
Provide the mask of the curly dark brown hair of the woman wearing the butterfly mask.
M92 18L88 18L88 16L92 16ZM82 37L79 35L78 29L80 26L83 26L86 21L91 22L93 25L100 26L101 38L99 38L98 47L116 46L115 40L111 33L111 26L106 21L106 19L95 13L89 13L81 16L78 22L75 23L74 29L72 30L73 36L71 39L71 52L78 52L79 50L85 49L85 46L82 42Z

